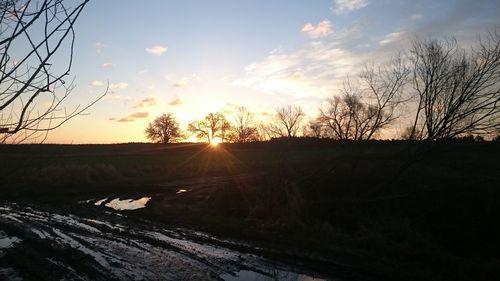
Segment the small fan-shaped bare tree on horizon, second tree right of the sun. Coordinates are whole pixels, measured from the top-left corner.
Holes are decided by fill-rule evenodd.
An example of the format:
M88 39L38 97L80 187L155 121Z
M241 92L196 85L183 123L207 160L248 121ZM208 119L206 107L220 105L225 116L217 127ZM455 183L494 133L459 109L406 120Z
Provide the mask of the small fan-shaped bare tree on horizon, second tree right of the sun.
M304 116L305 113L300 106L278 107L266 130L273 137L296 137Z

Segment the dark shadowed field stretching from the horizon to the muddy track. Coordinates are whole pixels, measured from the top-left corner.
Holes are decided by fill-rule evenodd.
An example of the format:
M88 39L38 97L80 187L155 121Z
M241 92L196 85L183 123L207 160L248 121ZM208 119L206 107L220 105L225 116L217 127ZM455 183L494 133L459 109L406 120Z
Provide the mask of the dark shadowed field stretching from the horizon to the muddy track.
M247 241L244 252L308 275L500 278L498 141L2 145L0 157L2 204L88 217L109 209L99 199L148 196L123 212L135 228ZM0 268L20 255L0 254Z

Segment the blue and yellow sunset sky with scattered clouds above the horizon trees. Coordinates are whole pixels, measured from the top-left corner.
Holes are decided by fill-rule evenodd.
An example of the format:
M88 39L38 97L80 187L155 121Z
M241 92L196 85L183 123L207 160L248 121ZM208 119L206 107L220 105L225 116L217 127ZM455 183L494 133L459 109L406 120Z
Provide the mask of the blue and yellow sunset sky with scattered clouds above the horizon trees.
M500 24L497 0L92 0L76 23L68 109L107 95L49 143L146 141L165 112L183 128L244 105L264 120L300 105L309 118L366 63L415 38L471 44Z

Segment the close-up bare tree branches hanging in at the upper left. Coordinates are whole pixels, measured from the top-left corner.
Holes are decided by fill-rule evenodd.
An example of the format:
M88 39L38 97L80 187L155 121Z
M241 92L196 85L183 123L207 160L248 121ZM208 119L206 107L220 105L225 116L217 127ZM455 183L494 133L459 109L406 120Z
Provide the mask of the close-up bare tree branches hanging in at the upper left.
M71 111L64 107L75 87L65 80L73 63L73 26L89 0L67 2L0 2L0 143L46 137L100 99ZM66 65L53 65L62 56Z

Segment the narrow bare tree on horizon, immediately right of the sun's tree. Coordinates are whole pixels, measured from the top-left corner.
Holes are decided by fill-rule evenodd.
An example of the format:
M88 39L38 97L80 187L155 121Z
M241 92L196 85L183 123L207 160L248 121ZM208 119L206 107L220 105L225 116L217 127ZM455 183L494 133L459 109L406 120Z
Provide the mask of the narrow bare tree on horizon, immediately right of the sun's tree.
M234 142L251 142L258 140L257 127L254 126L253 113L244 106L238 106L234 115L232 139Z

